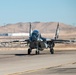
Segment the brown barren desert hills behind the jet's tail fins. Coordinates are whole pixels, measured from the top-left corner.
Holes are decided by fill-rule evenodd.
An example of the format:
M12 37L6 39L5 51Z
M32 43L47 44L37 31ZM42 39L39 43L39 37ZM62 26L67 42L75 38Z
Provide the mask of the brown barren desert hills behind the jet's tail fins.
M41 33L55 33L57 22L33 22L32 29L38 29ZM59 23L60 32L64 33L74 33L76 32L76 27L71 25L66 25ZM7 24L5 26L0 26L0 33L27 33L29 32L29 22L27 23L16 23Z

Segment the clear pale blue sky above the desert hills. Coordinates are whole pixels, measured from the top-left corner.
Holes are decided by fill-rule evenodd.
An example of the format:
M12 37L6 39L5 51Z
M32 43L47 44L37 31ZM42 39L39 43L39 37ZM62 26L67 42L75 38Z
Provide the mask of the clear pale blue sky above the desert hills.
M76 0L0 0L0 25L35 21L76 25Z

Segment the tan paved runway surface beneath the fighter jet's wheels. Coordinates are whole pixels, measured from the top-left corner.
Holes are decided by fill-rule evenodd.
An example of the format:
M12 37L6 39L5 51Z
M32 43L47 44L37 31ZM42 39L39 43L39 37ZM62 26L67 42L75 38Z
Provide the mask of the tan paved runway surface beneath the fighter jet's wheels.
M27 55L27 50L0 51L0 75L76 75L76 50L44 50Z

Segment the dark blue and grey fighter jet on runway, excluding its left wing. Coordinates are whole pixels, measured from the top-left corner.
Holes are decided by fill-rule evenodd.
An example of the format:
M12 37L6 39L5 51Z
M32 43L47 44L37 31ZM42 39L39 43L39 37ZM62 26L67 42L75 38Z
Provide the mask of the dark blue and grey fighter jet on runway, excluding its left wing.
M56 28L55 37L53 39L44 38L41 36L40 32L38 30L32 31L32 26L30 23L30 29L29 29L29 39L26 40L29 44L28 48L28 55L31 54L33 49L36 49L36 54L40 54L40 51L44 50L45 48L50 49L50 53L54 54L54 46L55 43L70 43L75 42L74 40L62 40L58 39L59 37L59 23Z

